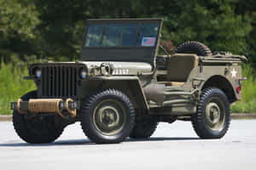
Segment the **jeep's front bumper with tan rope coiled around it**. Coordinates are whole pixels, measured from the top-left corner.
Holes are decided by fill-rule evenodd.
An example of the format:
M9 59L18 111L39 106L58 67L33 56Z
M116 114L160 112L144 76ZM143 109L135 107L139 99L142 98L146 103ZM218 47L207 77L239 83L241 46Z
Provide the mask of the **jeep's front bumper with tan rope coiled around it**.
M80 102L73 99L29 99L11 102L11 109L20 114L55 113L63 118L75 117L80 108Z

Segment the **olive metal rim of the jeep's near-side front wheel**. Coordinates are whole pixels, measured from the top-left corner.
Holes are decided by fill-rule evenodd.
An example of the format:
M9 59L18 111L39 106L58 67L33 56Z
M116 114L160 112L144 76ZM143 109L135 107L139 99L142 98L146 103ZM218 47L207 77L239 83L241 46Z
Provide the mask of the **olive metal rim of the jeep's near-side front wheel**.
M93 111L93 123L104 135L115 135L125 126L126 111L116 99L104 99Z

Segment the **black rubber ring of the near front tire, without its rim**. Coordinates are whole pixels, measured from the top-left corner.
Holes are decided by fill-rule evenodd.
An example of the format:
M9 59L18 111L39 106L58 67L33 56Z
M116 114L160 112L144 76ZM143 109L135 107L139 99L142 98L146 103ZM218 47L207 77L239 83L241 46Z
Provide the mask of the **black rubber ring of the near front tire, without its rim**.
M96 106L104 99L114 99L121 103L125 109L126 119L124 127L119 133L107 135L101 133L93 123L93 114ZM131 100L122 92L116 89L106 89L89 97L82 104L82 120L81 127L84 134L96 144L115 144L125 140L131 133L131 129L135 122L135 111Z

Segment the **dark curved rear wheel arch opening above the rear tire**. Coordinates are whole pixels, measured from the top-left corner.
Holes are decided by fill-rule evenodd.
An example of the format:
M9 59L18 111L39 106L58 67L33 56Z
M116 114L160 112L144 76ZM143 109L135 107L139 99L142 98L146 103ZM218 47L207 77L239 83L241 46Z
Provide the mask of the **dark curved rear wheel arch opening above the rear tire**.
M201 90L206 88L219 88L227 96L230 103L233 103L236 101L236 92L232 87L230 81L226 77L223 77L220 75L209 77L207 81L204 83L204 85L202 86Z

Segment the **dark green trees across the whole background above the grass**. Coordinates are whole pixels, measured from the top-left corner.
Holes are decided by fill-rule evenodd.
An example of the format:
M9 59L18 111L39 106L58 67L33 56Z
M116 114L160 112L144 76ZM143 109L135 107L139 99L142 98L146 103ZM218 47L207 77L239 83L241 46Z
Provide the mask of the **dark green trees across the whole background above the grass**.
M199 41L256 62L253 0L0 0L0 56L79 59L86 19L129 17L163 18L163 40L176 46Z

